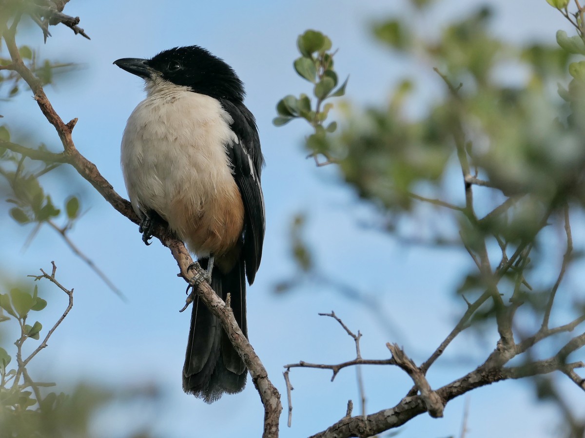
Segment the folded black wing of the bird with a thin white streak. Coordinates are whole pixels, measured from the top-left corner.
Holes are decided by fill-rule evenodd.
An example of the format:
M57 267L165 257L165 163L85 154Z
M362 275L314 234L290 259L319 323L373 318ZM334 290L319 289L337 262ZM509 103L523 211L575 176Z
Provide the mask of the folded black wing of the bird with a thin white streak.
M260 150L260 137L254 116L243 104L222 101L223 108L232 117L230 126L235 133L232 143L226 145L233 165L233 178L240 189L245 211L243 255L246 261L246 277L254 282L262 257L264 242L264 196L260 185L260 173L264 158Z

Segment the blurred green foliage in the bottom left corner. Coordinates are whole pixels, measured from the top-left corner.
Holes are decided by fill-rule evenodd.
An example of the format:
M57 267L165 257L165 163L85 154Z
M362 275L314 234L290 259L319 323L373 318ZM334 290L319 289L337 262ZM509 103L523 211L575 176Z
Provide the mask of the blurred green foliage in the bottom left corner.
M47 389L56 387L54 382L33 379L29 370L36 362L41 364L36 364L36 368L42 368L43 345L46 346L49 337L56 333L63 318L48 324L48 327L53 326L49 332L49 328L37 320L40 319L37 315L44 313L47 306L37 286L32 290L26 282L12 286L5 292L2 289L9 287L8 281L4 278L0 283L0 334L12 333L14 329L18 333L13 343L6 335L0 337L0 438L104 436L103 427L99 427L97 433L92 432L92 425L104 409L109 406L123 409L133 403L140 403L144 409L160 402L160 390L146 383L136 388L117 389L104 388L96 382L80 383L63 392ZM72 295L73 291L68 293ZM70 305L72 303L70 301ZM70 308L67 306L67 311ZM33 342L40 339L43 344ZM27 355L25 351L32 352ZM132 432L125 436L152 437L147 432L148 426L132 425L129 427Z

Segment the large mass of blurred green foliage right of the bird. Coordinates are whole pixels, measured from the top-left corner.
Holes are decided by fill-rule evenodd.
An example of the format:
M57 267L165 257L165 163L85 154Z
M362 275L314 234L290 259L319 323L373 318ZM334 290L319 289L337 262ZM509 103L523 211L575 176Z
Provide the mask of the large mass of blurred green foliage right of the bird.
M558 10L550 9L551 18L560 12L574 32L559 30L549 43L519 43L494 34L487 6L429 37L420 23L440 2L411 0L401 16L373 22L371 35L386 50L381 56L434 70L433 83L413 74L391 84L386 102L364 107L345 102L336 112L338 129L331 132L315 129L311 102L321 98L316 87L312 96L278 102L274 120L284 125L305 119L321 133L318 142L315 134L307 139L311 156L336 164L347 185L376 206L381 228L399 242L449 242L469 253L472 268L456 292L467 305L478 303L469 325L480 336L495 328L503 336L506 324L520 340L548 329L555 298L570 309L565 323L579 325L584 318L585 299L567 306L561 282L584 250L583 242L573 248L570 221L583 225L585 202L585 8L578 1L546 1ZM301 58L294 64L313 83L325 77L316 71L326 71L318 61L322 55L307 58L303 51L314 34L299 36ZM325 36L319 41L315 47L328 53L331 41ZM299 102L304 111L290 110ZM297 223L304 218L295 220L291 233L297 270L276 285L278 292L298 287L302 279L316 285L316 278L327 277L315 274L320 271ZM353 286L330 282L339 290ZM570 339L557 338L550 351ZM533 359L532 353L523 357L527 369ZM575 417L574 409L561 411L570 424L566 436L579 436L585 419Z

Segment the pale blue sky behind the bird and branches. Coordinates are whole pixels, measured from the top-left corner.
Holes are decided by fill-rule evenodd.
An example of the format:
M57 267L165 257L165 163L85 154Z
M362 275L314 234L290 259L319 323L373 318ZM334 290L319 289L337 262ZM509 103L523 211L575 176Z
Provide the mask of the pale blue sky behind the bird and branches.
M545 0L488 3L497 8L493 29L498 35L554 42L556 30L566 28ZM446 20L464 15L480 2L439 4L420 18L420 26L431 36ZM119 143L126 119L143 98L143 91L138 78L112 61L151 57L170 47L198 44L238 72L246 84L246 103L256 115L267 163L263 172L267 232L263 262L249 289L249 335L282 394L282 365L353 358L352 340L333 320L317 316L318 312L335 310L350 328L361 330L364 357L387 357L385 343L398 342L420 363L465 308L463 302L453 299L453 290L459 276L470 267L466 254L407 249L391 236L360 227L359 219L369 214L369 206L359 204L350 189L337 184L334 167L315 168L312 161L305 160L302 140L309 133L308 126L301 122L281 128L271 125L278 99L309 91L307 83L292 70L297 35L308 28L322 30L339 47L336 70L340 77L351 75L346 96L350 101L383 104L391 85L405 76L422 81L414 112L440 95L442 84L432 65L422 64L421 68L421 64L393 56L369 35L368 23L404 13L406 5L402 0L386 4L376 0L73 0L66 12L81 17L80 26L91 41L75 37L64 26L51 28L53 37L46 46L34 32L34 37L23 36L21 40L40 49L43 56L81 64L63 82L47 89L47 94L63 119L79 118L74 130L77 148L123 196ZM43 139L56 150L59 147L54 130L26 92L15 102L3 103L1 112L9 126L26 126L29 132L34 126L33 138ZM57 192L62 188L54 187ZM263 411L250 380L242 394L224 396L213 405L181 390L190 315L178 313L185 287L183 280L176 278L177 265L168 250L157 243L144 246L137 227L113 211L81 178L68 180L67 191L82 195L83 208L88 209L71 239L122 289L128 302L113 295L51 230L42 230L26 250L21 250L25 242L22 227L0 216L0 225L8 230L2 237L0 254L11 257L18 267L11 275L32 274L37 267L49 269L54 260L59 280L75 288L73 312L51 338L49 348L42 351L38 359L42 369L35 370L37 375L57 381L64 376L91 378L113 386L155 381L164 388L164 404L155 410L136 408L123 415L104 412L96 426L102 436L122 436L144 423L164 437L194 436L194 425L199 430L197 436L216 436L217 422L221 423L222 436L260 436ZM388 330L362 305L321 285L307 284L283 296L273 293L274 283L294 272L288 256L288 227L291 215L297 212L308 215L307 238L325 272L375 296L391 326L400 330ZM42 290L50 297L50 308L43 316L47 326L48 316L59 314L66 297L49 284ZM432 368L431 385L439 387L470 371L490 351L493 340L494 333L484 333L483 338L464 333L446 353L445 363ZM456 363L462 355L475 360ZM342 371L333 383L330 377L319 370L291 371L295 387L292 428L286 427L283 414L281 436L308 436L324 429L345 415L348 399L353 399L357 409L355 370ZM411 386L407 375L397 368L366 368L364 381L369 413L390 408ZM579 396L574 385L565 386L567 393ZM463 405L463 398L450 402L443 419L419 416L404 427L401 436L458 435ZM550 436L555 431L555 413L553 406L534 403L529 385L502 382L470 395L467 436L493 436L494 422L505 427L499 436Z

